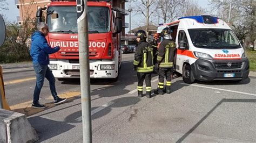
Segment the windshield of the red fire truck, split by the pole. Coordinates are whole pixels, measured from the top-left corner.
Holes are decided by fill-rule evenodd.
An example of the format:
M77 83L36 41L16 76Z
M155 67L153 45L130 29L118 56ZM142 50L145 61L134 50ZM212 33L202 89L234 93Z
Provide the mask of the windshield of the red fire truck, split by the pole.
M77 33L76 6L49 6L47 23L49 32ZM109 8L88 6L89 33L106 33L110 31Z

